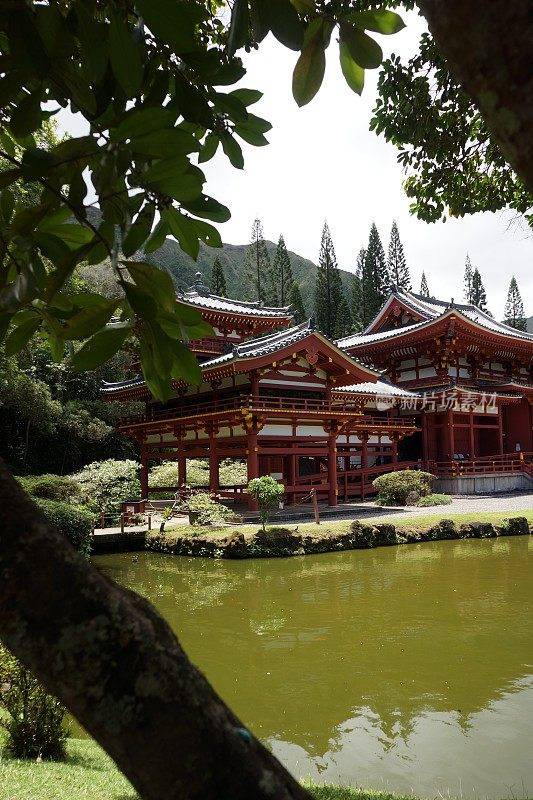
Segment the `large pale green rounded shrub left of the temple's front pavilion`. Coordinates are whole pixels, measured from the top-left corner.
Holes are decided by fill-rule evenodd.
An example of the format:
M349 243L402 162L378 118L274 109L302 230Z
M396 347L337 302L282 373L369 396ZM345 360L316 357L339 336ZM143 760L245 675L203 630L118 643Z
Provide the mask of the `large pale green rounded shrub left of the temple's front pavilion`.
M81 489L82 502L91 511L117 511L124 500L141 496L139 464L131 459L93 461L70 477Z

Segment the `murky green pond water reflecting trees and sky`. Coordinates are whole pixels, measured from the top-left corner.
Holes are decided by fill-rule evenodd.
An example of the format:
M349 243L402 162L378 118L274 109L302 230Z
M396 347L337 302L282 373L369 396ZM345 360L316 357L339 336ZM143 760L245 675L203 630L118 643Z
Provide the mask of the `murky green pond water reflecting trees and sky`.
M533 797L533 539L95 558L298 777Z

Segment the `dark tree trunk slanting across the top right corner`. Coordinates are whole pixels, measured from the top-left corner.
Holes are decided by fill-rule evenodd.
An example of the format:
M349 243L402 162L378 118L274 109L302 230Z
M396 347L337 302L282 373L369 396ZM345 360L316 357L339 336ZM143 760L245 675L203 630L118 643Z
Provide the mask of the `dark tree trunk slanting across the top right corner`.
M417 0L442 55L533 192L531 0Z

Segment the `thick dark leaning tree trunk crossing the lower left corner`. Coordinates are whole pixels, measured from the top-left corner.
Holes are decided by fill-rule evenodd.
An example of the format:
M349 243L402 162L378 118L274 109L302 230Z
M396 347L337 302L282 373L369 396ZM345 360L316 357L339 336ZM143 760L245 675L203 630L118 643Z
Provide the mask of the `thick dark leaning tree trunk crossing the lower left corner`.
M0 636L142 798L309 800L163 618L49 529L1 459L0 508Z

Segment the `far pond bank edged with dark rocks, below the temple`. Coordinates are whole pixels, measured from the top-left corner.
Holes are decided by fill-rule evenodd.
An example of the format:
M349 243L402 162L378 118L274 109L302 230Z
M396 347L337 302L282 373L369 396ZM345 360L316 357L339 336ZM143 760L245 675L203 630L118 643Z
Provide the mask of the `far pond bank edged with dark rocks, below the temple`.
M300 531L299 526L270 527L266 531L245 533L234 530L225 536L209 533L205 528L198 535L179 530L150 532L146 549L155 553L171 553L203 558L286 558L290 556L332 553L391 545L435 542L445 539L489 539L499 536L525 536L533 531L526 517L511 517L496 522L469 521L457 524L441 519L425 528L392 523L346 522L333 527L314 526Z

